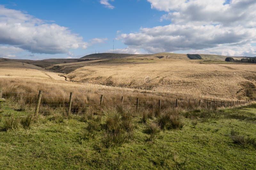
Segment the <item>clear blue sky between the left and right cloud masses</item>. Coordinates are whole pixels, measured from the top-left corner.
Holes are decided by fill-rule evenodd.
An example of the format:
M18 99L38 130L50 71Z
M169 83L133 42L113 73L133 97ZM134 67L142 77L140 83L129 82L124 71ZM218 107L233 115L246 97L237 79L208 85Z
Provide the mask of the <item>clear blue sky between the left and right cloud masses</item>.
M125 3L124 3L125 2ZM93 38L107 38L105 43L95 44L87 49L71 50L75 56L105 52L113 48L113 38L120 33L134 33L140 27L153 27L164 25L159 18L163 11L152 10L150 4L145 0L121 0L114 1L113 10L100 4L97 0L74 0L74 1L1 1L6 8L26 11L29 15L43 20L54 21L54 23L68 27L72 33L78 33L84 41ZM169 23L166 21L166 23ZM114 41L115 48L125 48L121 40ZM40 54L35 54L40 55ZM67 57L66 54L46 55L40 57ZM26 58L26 57L25 57Z

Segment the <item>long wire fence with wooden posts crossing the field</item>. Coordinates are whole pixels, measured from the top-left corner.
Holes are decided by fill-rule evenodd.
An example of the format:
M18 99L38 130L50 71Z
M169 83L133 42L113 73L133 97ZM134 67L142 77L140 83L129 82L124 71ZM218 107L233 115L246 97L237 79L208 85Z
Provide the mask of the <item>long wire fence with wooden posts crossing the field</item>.
M4 94L4 95L3 95ZM39 94L35 92L3 92L0 89L0 116L26 116L29 114L84 114L89 111L100 110L103 108L113 108L117 105L129 107L136 112L143 112L144 110L162 111L167 108L189 108L189 107L203 107L207 109L216 109L218 107L234 107L237 105L247 104L251 100L207 100L200 98L178 98L167 97L164 99L152 98L134 98L132 96L104 96L98 95L95 97L74 96L70 92L69 97L49 96L48 92L40 91ZM2 100L1 100L2 99ZM1 109L1 102L5 110Z

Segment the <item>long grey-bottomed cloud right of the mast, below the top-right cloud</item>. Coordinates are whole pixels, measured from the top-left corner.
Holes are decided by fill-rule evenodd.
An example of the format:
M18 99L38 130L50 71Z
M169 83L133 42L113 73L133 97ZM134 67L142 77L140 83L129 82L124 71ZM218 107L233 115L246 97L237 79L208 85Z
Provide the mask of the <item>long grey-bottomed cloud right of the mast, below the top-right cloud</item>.
M237 27L168 25L141 28L140 33L121 34L126 45L144 48L150 53L242 45L256 36L255 29Z

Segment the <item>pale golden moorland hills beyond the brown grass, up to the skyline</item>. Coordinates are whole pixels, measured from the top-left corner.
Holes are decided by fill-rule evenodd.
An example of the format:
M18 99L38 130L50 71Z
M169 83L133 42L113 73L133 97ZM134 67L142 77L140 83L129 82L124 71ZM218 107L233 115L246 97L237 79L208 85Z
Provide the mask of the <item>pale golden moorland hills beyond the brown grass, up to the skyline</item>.
M203 60L189 60L186 54L174 53L102 53L85 56L85 59L89 60L48 59L34 63L30 61L46 69L27 64L28 62L20 63L26 62L25 60L6 59L8 61L0 61L0 76L66 79L222 99L256 98L255 64L224 62L225 56L219 55L200 55ZM109 59L111 57L115 59Z

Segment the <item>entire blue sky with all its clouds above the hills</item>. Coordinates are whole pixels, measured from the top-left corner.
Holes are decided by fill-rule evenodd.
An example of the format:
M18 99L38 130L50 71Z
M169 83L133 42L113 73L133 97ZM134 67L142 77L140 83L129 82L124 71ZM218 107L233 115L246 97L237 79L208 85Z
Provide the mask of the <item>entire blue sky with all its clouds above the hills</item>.
M0 57L256 56L255 0L1 0Z

